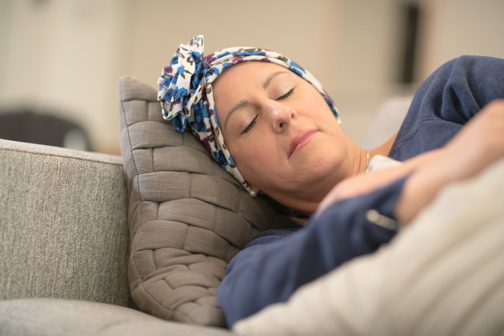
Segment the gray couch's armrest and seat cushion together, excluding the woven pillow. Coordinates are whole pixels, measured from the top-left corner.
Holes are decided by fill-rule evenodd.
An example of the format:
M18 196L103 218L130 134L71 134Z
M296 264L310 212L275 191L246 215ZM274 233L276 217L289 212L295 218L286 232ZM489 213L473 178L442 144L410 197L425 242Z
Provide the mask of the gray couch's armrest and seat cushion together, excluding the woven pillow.
M0 335L229 335L129 292L121 157L0 139Z

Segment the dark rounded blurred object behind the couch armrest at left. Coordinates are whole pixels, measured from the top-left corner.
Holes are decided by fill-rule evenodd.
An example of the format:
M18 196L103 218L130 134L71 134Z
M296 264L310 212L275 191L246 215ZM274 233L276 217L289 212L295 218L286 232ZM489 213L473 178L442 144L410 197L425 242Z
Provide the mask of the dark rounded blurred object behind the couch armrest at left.
M0 138L74 150L90 150L89 137L79 125L30 111L0 113Z

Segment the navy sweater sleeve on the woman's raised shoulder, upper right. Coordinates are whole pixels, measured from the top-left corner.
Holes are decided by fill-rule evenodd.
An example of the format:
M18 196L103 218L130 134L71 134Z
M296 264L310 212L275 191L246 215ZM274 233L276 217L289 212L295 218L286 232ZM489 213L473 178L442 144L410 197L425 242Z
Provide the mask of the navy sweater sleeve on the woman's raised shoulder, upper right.
M388 157L404 161L443 147L483 106L504 98L504 60L461 56L418 88Z

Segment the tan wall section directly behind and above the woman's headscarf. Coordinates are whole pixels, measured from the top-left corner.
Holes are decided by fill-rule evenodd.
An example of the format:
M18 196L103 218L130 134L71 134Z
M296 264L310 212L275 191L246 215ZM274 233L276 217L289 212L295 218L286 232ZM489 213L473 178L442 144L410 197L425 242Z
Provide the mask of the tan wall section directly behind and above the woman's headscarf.
M155 85L160 65L171 60L178 45L203 34L207 53L226 47L264 47L301 65L309 64L310 72L320 81L333 83L340 63L341 2L139 1L134 19L132 74ZM176 8L173 3L177 3ZM212 6L214 3L218 5ZM171 14L174 10L182 14Z

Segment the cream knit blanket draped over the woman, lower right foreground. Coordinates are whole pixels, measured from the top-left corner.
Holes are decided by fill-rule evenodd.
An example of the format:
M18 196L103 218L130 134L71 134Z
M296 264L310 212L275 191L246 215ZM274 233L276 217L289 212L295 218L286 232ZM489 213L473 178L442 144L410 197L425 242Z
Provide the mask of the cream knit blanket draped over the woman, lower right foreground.
M377 253L237 322L239 335L503 335L504 160L447 186Z

